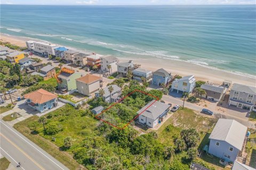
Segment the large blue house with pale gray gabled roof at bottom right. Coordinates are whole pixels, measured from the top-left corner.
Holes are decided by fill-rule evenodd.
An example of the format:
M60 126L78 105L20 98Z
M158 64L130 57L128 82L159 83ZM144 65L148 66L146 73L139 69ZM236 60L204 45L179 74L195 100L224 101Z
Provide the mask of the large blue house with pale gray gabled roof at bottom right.
M247 127L235 120L220 118L215 125L209 139L209 153L235 162L239 151L246 145L245 135Z

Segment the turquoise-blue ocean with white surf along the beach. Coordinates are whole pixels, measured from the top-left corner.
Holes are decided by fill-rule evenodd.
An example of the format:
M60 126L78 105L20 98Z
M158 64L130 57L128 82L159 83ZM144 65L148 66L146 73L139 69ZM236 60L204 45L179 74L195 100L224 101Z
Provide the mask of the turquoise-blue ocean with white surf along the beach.
M256 75L255 5L0 7L0 31L7 35Z

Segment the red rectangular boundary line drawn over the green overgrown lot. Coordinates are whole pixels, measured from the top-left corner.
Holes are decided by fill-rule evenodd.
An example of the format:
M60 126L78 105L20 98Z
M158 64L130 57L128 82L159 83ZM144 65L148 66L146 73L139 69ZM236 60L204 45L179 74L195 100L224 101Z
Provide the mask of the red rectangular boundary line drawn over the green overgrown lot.
M144 109L140 114L138 114L137 116L135 116L135 117L133 118L133 120L131 120L130 122L128 122L128 123L127 123L126 125L124 125L123 127L118 127L118 126L116 126L116 125L114 125L114 124L112 124L112 123L110 123L110 122L108 122L108 121L105 121L105 120L103 120L102 118L98 117L98 116L100 116L101 114L103 114L104 112L108 111L108 109L110 109L111 107L113 107L113 106L115 106L116 104L118 104L118 103L120 103L121 101L123 101L126 97L131 96L134 92L141 92L142 94L145 94L145 95L154 97L154 98L155 98L155 101L154 101L153 103L151 103L146 109ZM126 126L128 126L129 124L131 124L136 118L138 118L143 112L145 112L151 105L153 105L153 104L154 104L156 101L158 101L158 100L159 100L159 98L156 97L156 96L153 96L153 95L150 95L150 94L148 94L148 93L146 93L146 92L144 92L144 91L135 89L134 91L130 92L130 94L126 95L125 97L123 97L122 99L118 100L116 103L114 103L113 105L109 106L108 108L106 108L105 110L103 110L101 113L99 113L98 115L96 115L95 118L97 118L98 120L100 120L100 121L102 121L102 122L105 122L105 123L107 123L107 124L109 124L109 125L111 125L111 126L117 128L117 129L119 129L119 130L123 130L124 128L126 128Z

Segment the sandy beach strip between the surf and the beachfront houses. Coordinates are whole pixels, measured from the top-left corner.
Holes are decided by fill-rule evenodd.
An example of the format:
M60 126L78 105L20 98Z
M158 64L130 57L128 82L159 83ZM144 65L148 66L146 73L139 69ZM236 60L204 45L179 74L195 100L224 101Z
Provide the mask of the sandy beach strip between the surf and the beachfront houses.
M9 41L11 44L15 44L18 46L25 46L27 40L39 40L35 38L28 38L28 37L16 37L5 35L1 33L0 36L2 40ZM43 41L43 40L41 40ZM77 49L80 50L80 49ZM80 50L81 52L85 50ZM141 68L148 69L151 71L155 71L157 69L165 69L168 72L171 72L172 75L179 74L181 76L186 75L195 75L197 80L204 80L214 83L221 84L225 80L232 81L233 83L240 83L246 84L249 86L256 86L256 78L254 77L246 77L245 75L239 75L238 73L231 73L228 71L222 71L217 69L211 69L209 67L204 67L201 65L188 63L185 61L178 61L178 60L167 60L163 58L157 57L147 57L147 58L122 58L118 57L119 62L133 60L135 64L141 64Z

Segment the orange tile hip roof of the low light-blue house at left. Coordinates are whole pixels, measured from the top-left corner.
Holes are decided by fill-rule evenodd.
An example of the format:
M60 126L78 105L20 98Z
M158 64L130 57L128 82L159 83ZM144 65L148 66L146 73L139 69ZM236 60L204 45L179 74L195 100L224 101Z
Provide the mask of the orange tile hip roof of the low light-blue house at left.
M30 99L33 103L43 104L47 101L50 101L52 99L57 98L56 95L52 94L49 91L46 91L44 89L39 89L33 92L30 92L29 94L24 95L24 98Z

